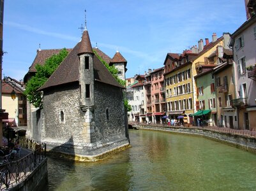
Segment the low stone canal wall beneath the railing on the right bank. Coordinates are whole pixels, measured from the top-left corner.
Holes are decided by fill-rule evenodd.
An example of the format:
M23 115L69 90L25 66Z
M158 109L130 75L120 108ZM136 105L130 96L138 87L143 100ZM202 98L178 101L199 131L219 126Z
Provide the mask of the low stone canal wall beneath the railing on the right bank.
M195 134L199 136L204 136L206 138L213 139L215 141L220 141L222 143L227 143L229 145L236 146L237 148L242 148L248 152L256 153L256 138L250 136L242 136L237 134L230 134L229 132L218 132L203 128L193 128L193 127L169 127L169 126L156 126L156 125L139 125L140 129L149 129L155 131L167 131L167 132L177 132L183 134Z

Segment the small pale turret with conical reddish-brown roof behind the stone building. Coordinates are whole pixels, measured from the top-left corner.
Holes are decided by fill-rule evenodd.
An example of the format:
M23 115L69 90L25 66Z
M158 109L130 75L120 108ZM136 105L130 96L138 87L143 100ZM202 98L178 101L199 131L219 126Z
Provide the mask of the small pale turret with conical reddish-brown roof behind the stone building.
M121 53L117 51L112 60L110 61L109 66L114 65L118 70L118 77L121 80L125 80L125 73L127 71L126 64L126 59L124 59L123 55L121 55Z

